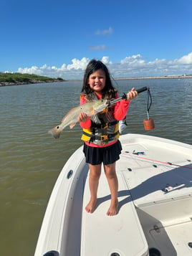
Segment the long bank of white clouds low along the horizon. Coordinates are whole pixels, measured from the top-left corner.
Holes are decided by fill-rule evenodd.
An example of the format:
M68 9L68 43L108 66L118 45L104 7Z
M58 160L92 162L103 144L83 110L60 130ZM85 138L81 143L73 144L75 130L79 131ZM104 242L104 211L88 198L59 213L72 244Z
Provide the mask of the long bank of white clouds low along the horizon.
M107 65L113 77L192 74L192 52L170 61L155 59L146 62L140 54L125 57L118 63L110 61L108 56L104 56L100 60ZM72 59L72 64L64 63L61 67L50 67L45 64L42 67L19 67L17 72L62 77L64 79L82 79L89 61L90 59L87 57L83 57L81 60L75 58Z

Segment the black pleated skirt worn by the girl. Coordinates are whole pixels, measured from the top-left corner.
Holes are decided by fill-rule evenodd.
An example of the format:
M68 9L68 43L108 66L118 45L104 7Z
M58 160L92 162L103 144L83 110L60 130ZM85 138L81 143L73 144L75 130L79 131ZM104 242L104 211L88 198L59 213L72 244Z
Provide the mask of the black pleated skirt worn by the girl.
M106 147L91 147L84 143L83 153L85 153L86 163L93 166L103 163L104 165L115 163L120 158L122 146L120 141Z

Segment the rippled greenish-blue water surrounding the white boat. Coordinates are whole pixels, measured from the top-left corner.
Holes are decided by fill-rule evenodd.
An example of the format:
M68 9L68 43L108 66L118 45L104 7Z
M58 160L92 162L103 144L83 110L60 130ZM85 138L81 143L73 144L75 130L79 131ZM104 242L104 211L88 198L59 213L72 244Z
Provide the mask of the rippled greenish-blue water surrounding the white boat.
M119 94L150 87L150 117L145 131L147 94L130 104L125 133L143 133L192 144L192 80L124 80ZM82 145L81 128L55 140L47 131L79 104L82 82L0 87L0 248L1 255L32 256L54 183L67 158Z

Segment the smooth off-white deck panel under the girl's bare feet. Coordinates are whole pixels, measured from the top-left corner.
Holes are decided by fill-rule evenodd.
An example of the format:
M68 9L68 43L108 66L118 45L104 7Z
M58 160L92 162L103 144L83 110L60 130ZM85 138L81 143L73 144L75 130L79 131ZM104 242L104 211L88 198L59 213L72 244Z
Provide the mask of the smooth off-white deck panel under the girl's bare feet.
M147 255L148 245L130 199L128 187L122 174L117 176L119 212L113 217L106 214L110 207L110 191L105 174L100 177L95 212L89 214L85 211L85 206L90 200L87 176L82 214L82 256L110 256L115 252L121 256Z

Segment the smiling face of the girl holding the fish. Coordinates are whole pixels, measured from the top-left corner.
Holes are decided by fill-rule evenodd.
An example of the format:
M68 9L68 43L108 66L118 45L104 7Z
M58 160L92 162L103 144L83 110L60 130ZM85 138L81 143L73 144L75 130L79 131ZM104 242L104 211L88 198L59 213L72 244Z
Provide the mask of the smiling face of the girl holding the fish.
M105 72L103 70L97 70L93 72L88 79L88 85L97 94L102 94L102 90L105 87Z

